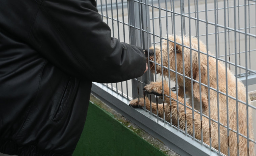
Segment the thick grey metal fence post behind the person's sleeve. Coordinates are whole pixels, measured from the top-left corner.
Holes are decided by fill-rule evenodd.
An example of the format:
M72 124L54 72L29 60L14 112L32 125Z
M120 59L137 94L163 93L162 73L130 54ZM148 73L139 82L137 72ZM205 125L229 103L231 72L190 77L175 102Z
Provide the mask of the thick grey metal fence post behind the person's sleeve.
M134 0L128 0L128 10L129 10L129 25L130 25L130 44L137 45L143 49L147 49L151 46L150 35L145 32L150 32L150 18L149 18L149 7L145 6L148 4L148 0L139 0L135 2ZM145 4L141 4L145 3ZM147 8L146 8L147 7ZM132 80L132 93L133 98L138 96L143 97L143 82L145 84L149 83L148 71L137 80ZM153 80L153 75L150 74L150 79Z

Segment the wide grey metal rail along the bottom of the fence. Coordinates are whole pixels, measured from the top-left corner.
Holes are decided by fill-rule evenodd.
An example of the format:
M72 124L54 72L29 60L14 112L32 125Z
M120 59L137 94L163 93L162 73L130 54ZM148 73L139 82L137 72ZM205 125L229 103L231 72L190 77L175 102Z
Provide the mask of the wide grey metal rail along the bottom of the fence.
M206 144L201 145L169 124L158 120L155 116L140 108L129 106L127 99L108 89L105 85L93 83L92 94L122 114L127 119L161 140L166 146L183 156L217 156L216 150L209 150Z

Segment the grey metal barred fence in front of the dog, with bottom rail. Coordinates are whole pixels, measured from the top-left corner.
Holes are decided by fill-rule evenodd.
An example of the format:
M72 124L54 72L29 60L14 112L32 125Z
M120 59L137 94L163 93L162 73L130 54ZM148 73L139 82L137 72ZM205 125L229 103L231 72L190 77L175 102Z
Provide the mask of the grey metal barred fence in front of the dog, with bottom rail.
M143 47L148 55L151 49L154 56L148 59L153 73L116 84L94 83L93 94L181 155L255 155L250 152L256 146L251 135L256 107L248 99L256 86L255 0L97 0L97 4L113 37ZM171 46L174 60L164 53L169 54ZM197 65L192 64L195 56ZM162 99L143 91L150 82L160 82L162 88L166 82ZM144 110L128 106L137 97ZM176 112L171 112L172 105L179 105ZM177 118L167 120L168 113Z

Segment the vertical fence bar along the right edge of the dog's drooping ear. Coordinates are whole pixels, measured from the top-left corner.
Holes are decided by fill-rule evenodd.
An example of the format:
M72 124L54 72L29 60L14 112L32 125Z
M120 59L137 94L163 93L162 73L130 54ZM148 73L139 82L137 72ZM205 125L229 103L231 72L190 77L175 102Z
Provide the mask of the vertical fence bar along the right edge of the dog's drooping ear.
M207 0L205 0L205 21L208 21L208 10ZM210 150L212 149L212 138L211 138L211 106L210 106L210 76L209 76L209 40L208 40L208 23L205 22L206 28L206 52L207 52L207 86L208 86L208 109L209 109L209 135L210 135Z

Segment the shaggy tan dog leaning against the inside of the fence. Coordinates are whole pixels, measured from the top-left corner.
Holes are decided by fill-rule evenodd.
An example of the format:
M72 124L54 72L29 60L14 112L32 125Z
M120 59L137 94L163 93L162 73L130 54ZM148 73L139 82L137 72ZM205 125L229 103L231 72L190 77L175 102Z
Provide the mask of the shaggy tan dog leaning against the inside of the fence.
M174 40L174 36L169 35L169 40ZM183 37L184 45L189 45L189 37ZM176 43L182 43L182 37L176 36ZM198 50L197 38L191 38L191 48ZM156 46L156 58L154 55L149 56L150 60L155 60L156 63L161 64L161 50L160 46ZM176 44L176 52L177 52L177 71L179 73L183 73L183 61L182 57L184 56L184 67L185 67L185 75L191 77L190 72L190 49L184 47L184 53L182 52L182 46ZM150 50L154 50L154 47L151 47ZM200 51L207 53L206 46L200 41ZM209 53L210 54L210 53ZM168 67L168 59L167 56L169 55L169 66L170 69L175 70L175 57L174 57L174 43L169 42L169 52L167 51L167 42L164 41L162 43L162 58L163 58L163 66ZM220 92L227 93L231 97L237 97L238 100L246 102L246 89L244 85L238 80L236 86L236 77L233 73L228 70L228 90L226 90L226 68L225 65L218 61L218 71L216 72L216 59L212 57L209 58L209 71L207 71L207 56L205 54L200 54L200 67L201 67L201 77L199 77L199 59L198 59L198 52L192 50L192 76L193 79L196 81L200 81L201 83L207 85L207 72L209 72L209 84L211 88L217 89ZM155 64L150 63L150 70L154 73L155 72ZM161 66L156 65L156 72L161 74ZM217 77L216 73L218 73L218 86L217 86ZM163 75L168 76L168 70L163 69ZM175 81L176 76L175 72L170 72L170 79ZM191 80L185 79L185 86L183 85L183 76L178 75L178 101L184 103L184 87L186 96L191 96ZM237 87L237 96L236 96L236 87ZM154 93L158 95L162 95L162 82L151 82L150 84L145 86L145 91L148 93ZM169 96L169 85L164 82L164 94ZM219 100L217 100L217 96ZM200 85L199 83L193 82L193 99L194 103L200 103ZM177 99L177 95L171 92L171 98ZM236 131L237 130L237 116L236 116L236 100L228 98L226 95L219 93L210 89L210 101L208 101L208 88L201 85L201 99L202 99L202 113L206 116L209 116L209 107L210 107L210 118L218 121L219 115L219 122L225 126L227 126L227 104L228 104L228 114L229 114L229 128ZM185 120L187 122L187 132L192 135L193 133L193 119L192 119L192 110L187 108L186 114L184 112L184 106L179 104L179 112L177 112L177 102L171 100L171 107L169 104L170 99L166 96L164 97L164 103L166 104L163 110L163 105L158 105L159 116L163 117L163 111L165 111L165 119L166 121L170 121L170 110L171 110L171 118L172 123L177 124L178 117L180 122L180 127L185 129ZM147 97L145 97L145 105L146 109L150 110L150 101ZM250 104L250 99L248 99ZM186 101L187 105L191 107L192 99ZM133 107L144 107L144 100L140 98L134 99L130 102L130 105ZM219 113L217 110L217 105L219 105ZM194 106L197 111L200 111L200 105ZM157 112L157 105L156 103L152 102L152 112L156 114ZM238 124L239 124L239 133L247 137L247 115L249 117L249 138L254 140L253 136L253 127L252 127L252 110L249 107L249 113L246 113L246 105L238 102ZM220 146L220 152L224 154L228 154L228 145L230 148L230 155L235 156L237 155L237 134L236 132L229 131L229 136L227 136L227 128L224 126L220 126L220 145L218 145L218 124L214 121L211 121L209 128L209 119L206 117L202 117L202 123L200 120L200 114L194 112L194 135L197 139L201 139L201 124L202 124L202 131L203 131L203 141L210 145L210 137L211 137L211 145L213 148L218 150L218 146ZM247 139L241 135L239 135L239 155L245 156L254 155L254 144L250 141L249 143L249 150L247 149Z

